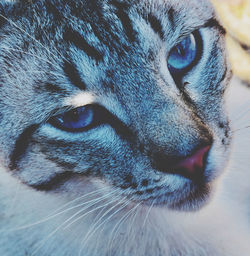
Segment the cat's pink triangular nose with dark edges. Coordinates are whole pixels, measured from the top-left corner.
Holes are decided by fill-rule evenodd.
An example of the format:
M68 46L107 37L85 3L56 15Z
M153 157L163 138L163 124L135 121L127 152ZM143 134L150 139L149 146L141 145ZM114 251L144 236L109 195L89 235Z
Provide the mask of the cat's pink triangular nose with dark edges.
M192 156L179 162L174 166L175 172L190 179L201 177L210 147L203 147L197 150Z

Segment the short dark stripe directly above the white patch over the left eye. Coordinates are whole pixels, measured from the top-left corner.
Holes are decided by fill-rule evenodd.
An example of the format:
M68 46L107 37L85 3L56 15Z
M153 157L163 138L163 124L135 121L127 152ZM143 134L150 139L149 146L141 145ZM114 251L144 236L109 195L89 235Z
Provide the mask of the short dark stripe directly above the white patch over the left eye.
M73 62L65 61L63 64L63 71L72 85L76 86L80 90L86 89L86 84L82 81L77 67Z

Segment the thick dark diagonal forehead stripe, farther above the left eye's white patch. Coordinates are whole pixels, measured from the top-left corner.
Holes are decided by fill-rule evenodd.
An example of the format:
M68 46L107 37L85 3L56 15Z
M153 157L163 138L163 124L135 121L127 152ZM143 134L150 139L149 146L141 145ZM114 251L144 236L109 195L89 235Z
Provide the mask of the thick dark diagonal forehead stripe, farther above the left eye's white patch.
M63 38L65 41L68 41L77 48L83 50L90 58L96 61L103 59L103 54L90 45L79 32L74 31L72 28L67 27L65 29Z

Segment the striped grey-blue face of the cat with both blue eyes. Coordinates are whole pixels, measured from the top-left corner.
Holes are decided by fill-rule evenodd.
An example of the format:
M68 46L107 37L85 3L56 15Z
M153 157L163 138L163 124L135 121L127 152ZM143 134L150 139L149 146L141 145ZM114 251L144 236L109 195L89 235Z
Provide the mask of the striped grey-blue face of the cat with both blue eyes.
M186 2L2 4L6 169L47 193L93 179L132 201L203 205L228 156L230 71L210 4Z

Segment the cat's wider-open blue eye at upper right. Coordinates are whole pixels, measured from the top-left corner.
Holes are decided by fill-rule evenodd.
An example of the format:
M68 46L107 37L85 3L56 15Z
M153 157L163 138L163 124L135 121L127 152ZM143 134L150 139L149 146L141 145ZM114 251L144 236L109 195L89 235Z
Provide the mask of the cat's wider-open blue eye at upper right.
M186 71L192 66L197 57L197 41L194 34L190 34L177 44L168 57L168 68L171 73Z

